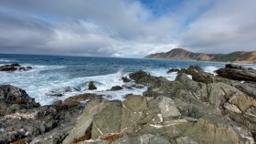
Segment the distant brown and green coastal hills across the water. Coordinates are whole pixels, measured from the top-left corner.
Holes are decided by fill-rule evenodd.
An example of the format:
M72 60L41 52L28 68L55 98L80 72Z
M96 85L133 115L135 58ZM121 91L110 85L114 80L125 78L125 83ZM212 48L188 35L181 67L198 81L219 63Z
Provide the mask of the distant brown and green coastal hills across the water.
M166 53L151 54L144 58L256 63L256 51L238 51L230 54L204 54L190 52L183 48L175 48Z

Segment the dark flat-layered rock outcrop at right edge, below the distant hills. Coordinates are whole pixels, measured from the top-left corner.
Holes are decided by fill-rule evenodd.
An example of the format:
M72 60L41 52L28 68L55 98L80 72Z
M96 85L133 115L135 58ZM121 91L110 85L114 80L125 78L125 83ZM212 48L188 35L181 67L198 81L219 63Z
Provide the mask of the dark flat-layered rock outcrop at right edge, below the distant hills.
M256 82L256 70L252 68L228 64L225 68L216 70L216 73L219 75L219 77Z

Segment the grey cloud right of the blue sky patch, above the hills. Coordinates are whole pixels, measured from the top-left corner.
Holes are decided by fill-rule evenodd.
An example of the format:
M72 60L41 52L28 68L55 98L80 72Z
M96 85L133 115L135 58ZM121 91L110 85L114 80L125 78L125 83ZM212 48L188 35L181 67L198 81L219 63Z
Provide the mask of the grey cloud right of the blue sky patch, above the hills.
M198 51L256 50L256 1L219 1L181 34L181 44Z

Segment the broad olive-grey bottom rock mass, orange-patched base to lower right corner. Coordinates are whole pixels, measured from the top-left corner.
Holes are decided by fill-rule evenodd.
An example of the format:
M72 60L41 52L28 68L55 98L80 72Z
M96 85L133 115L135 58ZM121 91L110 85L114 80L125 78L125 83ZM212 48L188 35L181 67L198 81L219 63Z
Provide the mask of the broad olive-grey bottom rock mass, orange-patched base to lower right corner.
M133 95L123 102L93 100L88 103L63 143L79 141L127 144L241 142L229 126L217 126L204 118L183 117L172 98Z

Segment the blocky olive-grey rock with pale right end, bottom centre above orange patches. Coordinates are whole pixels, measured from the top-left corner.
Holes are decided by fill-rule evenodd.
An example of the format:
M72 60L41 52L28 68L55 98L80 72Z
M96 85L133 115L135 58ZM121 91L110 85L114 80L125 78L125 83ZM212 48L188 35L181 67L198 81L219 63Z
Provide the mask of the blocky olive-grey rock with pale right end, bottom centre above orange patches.
M130 135L142 129L144 124L158 124L179 116L180 113L170 98L154 99L128 95L123 103L92 100L64 143L80 138L91 125L91 138L103 139L110 137L110 134L122 135L125 131Z

